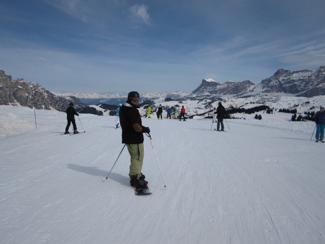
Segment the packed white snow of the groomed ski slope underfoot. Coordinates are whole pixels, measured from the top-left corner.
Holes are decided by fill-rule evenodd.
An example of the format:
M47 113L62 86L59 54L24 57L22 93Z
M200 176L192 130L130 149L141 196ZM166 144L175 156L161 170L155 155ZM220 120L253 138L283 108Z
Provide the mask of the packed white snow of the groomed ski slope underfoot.
M153 194L136 196L116 117L80 114L86 132L60 135L62 112L36 110L36 128L34 110L0 106L1 243L325 243L325 143L312 122L270 116L226 133L143 118Z

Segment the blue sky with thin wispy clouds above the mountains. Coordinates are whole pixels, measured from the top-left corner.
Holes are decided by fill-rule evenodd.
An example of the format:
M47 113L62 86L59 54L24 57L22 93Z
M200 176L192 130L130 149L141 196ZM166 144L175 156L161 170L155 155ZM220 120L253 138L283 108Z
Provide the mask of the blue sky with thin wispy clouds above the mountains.
M0 69L58 93L255 84L325 65L323 0L2 0Z

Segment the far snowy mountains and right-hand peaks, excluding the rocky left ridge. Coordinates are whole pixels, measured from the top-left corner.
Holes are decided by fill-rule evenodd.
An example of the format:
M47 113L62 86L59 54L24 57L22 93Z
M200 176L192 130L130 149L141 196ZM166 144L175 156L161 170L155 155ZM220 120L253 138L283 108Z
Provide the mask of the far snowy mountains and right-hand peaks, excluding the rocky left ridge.
M126 99L125 95L99 95L99 94L66 94L75 96L85 104L108 103L118 105ZM211 78L203 79L198 88L192 93L186 92L158 92L141 94L143 101L157 98L172 99L217 99L217 98L245 98L255 96L296 96L315 97L325 95L325 68L320 66L317 70L301 70L291 72L279 69L268 79L255 85L249 80L219 83Z

